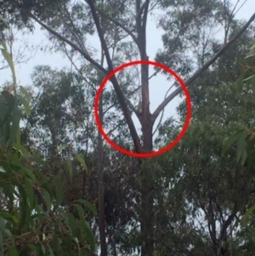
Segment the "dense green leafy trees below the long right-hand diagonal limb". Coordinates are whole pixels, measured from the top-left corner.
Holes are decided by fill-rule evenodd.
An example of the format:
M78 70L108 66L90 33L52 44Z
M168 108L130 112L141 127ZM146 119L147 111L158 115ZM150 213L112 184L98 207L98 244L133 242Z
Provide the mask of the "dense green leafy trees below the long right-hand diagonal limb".
M190 129L157 164L158 172L165 172L155 196L160 253L254 253L253 224L241 225L254 204L254 58L246 58L253 42L251 27L190 88ZM178 111L184 118L184 104ZM160 128L159 141L167 143L178 129L168 120ZM237 152L235 145L225 151L231 142Z

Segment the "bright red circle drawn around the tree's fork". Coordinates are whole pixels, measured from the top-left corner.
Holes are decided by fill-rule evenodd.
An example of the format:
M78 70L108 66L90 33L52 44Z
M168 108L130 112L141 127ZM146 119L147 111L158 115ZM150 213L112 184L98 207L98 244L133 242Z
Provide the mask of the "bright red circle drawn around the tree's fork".
M184 94L186 96L186 102L187 102L187 117L186 120L184 122L184 127L182 129L182 131L180 132L180 134L178 134L178 137L176 139L173 140L173 142L169 145L167 145L166 147L162 148L159 151L154 151L154 152L150 152L150 153L135 153L132 151L126 151L125 149L123 149L122 147L116 145L108 136L107 134L105 134L105 131L102 127L102 124L100 122L99 119L99 98L100 95L103 92L103 89L105 87L106 82L108 82L112 76L114 76L116 74L116 72L118 71L122 71L124 68L130 66L130 65L155 65L157 67L160 67L161 69L167 71L168 73L170 73L173 77L175 77L177 79L177 81L180 83L181 87L184 90ZM165 153L166 151L169 151L171 148L173 148L174 145L178 144L179 140L182 139L184 137L184 134L186 133L189 124L190 124L190 118L191 118L191 100L190 100L190 94L189 91L187 89L187 87L184 84L184 81L178 77L178 75L171 70L170 68L168 68L166 65L162 65L161 63L157 63L155 61L151 61L151 60L136 60L136 61L131 61L128 62L126 64L120 65L119 67L117 67L114 71L111 71L111 73L109 73L104 81L100 84L99 89L97 91L97 94L95 96L95 102L94 102L94 117L96 120L96 123L98 125L99 128L99 132L103 135L103 137L105 138L105 140L113 147L115 148L117 151L121 151L123 154L126 154L127 156L135 156L135 157L151 157L151 156L158 156L161 155L162 153Z

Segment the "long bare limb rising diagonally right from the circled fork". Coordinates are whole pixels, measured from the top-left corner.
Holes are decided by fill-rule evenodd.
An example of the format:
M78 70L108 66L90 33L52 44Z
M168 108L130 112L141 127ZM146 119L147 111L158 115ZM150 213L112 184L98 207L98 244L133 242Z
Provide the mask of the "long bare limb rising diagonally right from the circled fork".
M207 63L205 65L203 65L198 71L195 72L195 74L190 77L187 81L185 81L185 85L186 87L190 86L190 84L192 82L195 81L195 79L197 77L200 77L201 76L201 73L203 71L206 71L207 68L212 65L222 54L224 54L224 52L233 44L235 43L235 41L241 37L241 34L246 31L247 27L251 25L252 21L255 19L255 13L252 14L252 17L250 18L250 20L248 20L246 22L246 25L243 26L241 28L241 30L235 34L234 37L232 37L232 39L229 40L229 43L226 43L219 51L217 54L215 54L211 60L208 60ZM151 121L154 123L155 120L156 120L156 117L158 117L158 115L160 114L160 112L164 109L164 107L171 101L173 100L173 98L175 98L178 94L180 94L182 92L182 88L181 87L178 87L172 94L170 94L166 100L163 100L163 102L161 103L161 105L159 105L157 108L156 108L156 111L154 111L154 113L152 114L151 116Z

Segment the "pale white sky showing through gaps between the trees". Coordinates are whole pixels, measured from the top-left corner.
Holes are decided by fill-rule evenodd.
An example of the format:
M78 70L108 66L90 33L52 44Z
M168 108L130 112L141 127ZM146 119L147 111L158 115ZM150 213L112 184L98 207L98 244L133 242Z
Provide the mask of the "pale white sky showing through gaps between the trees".
M241 2L243 2L242 0ZM232 1L236 3L236 0ZM236 17L238 19L248 20L250 16L255 11L255 0L246 0L246 3L243 5L241 10L239 10ZM147 28L147 53L149 55L149 60L154 60L156 52L159 48L162 48L161 43L161 34L162 31L156 28L153 20L148 21ZM45 37L45 31L40 30L40 26L37 26L36 31L31 35L22 36L20 32L16 35L17 41L15 43L15 47L19 48L22 45L22 40L27 41L29 45L45 45L47 43L47 38ZM92 39L94 40L94 39ZM98 42L91 42L93 45L98 44ZM34 55L30 60L20 65L16 65L16 76L20 85L29 85L31 84L31 72L35 65L50 65L52 68L58 68L67 66L70 67L70 62L64 57L63 54L48 54L42 51L37 52L29 52L25 49L25 55L30 56ZM1 59L0 59L1 60ZM171 67L170 67L171 68ZM8 69L0 70L0 84L5 82L6 80L10 80L11 73ZM153 77L150 81L150 111L154 111L156 107L161 103L164 99L165 93L167 89L172 85L172 83L167 82L167 77L156 76ZM173 90L171 91L173 92ZM175 117L178 118L177 113L175 111L176 106L180 102L180 98L176 97L172 100L165 109L164 119L167 117ZM138 120L133 117L136 126L139 127Z

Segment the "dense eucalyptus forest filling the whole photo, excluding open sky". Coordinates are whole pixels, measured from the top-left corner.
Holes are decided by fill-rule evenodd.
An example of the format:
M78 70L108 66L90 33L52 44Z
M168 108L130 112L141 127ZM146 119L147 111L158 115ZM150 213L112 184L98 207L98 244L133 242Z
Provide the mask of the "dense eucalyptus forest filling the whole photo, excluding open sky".
M236 20L227 0L127 2L0 1L3 66L13 78L0 95L0 256L255 253L255 14ZM94 96L108 71L148 60L149 14L163 31L154 59L183 77L193 113L173 150L139 159L102 138ZM45 51L65 54L72 68L37 65L31 84L18 86L14 31L36 24L47 31ZM218 27L222 40L209 32ZM97 36L100 47L88 45ZM171 97L150 115L149 81L146 65L125 71L99 102L111 139L139 153L173 141L187 111L184 99L180 123L167 118L153 139Z

